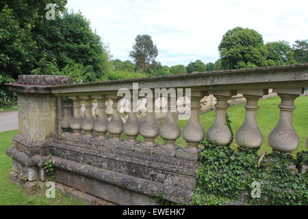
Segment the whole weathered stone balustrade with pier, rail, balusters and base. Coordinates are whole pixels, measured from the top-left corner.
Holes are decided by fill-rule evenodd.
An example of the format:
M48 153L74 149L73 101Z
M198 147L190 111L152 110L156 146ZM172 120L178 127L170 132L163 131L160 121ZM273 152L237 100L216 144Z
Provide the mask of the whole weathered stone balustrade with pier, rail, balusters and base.
M199 143L205 138L221 146L231 143L226 121L231 96L242 94L246 99L246 114L239 115L244 123L235 134L240 148L258 148L264 138L278 153L291 153L298 148L292 112L294 100L308 86L308 64L78 84L67 77L39 75L37 81L33 75L29 77L23 75L18 83L8 84L18 93L20 112L19 133L12 146L16 150L8 153L14 157L16 172L36 172L44 180L42 167L27 166L16 157L44 157L49 151L60 183L119 204L153 204L149 197L159 192L169 201L183 203L194 190L194 172L202 151ZM40 84L41 81L45 82ZM123 88L133 93L125 95L125 111L120 110L124 107L123 92L118 94ZM263 136L257 125L258 101L269 89L281 99L277 106L280 117L270 136ZM161 107L155 107L155 101L163 96L167 112L159 125L155 111ZM209 96L216 98L216 118L205 130L199 119L200 101ZM188 104L181 106L189 114L183 130L176 119L183 112L177 111L179 99L182 104L183 99L189 99ZM96 118L92 112L94 100ZM141 111L146 114L142 119L138 118ZM120 112L128 113L125 123ZM142 140L137 140L138 136ZM157 144L158 136L163 144ZM176 144L180 136L186 146ZM18 155L12 155L12 151Z

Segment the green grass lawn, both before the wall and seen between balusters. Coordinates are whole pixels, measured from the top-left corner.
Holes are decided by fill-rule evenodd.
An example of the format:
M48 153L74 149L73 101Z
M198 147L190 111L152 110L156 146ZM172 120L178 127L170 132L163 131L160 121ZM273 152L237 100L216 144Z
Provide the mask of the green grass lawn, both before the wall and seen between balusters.
M261 146L259 153L262 151L271 152L270 146L268 146L268 135L277 125L279 103L280 99L278 97L259 101L260 109L258 111L257 123L264 135L264 144ZM300 145L297 151L303 151L307 150L305 140L308 136L308 96L300 96L296 99L295 105L296 110L294 110L293 124L300 138ZM228 114L231 120L231 127L235 133L244 121L244 103L230 107ZM200 117L204 129L207 131L214 122L215 112L207 112ZM186 123L187 120L179 120L181 130L183 130ZM9 172L12 171L12 159L5 155L5 149L11 146L11 139L16 136L17 132L5 131L0 133L0 205L83 205L84 203L77 201L75 198L62 196L60 191L57 191L56 198L45 198L44 191L40 191L38 194L31 194L9 181ZM122 137L126 138L125 135ZM138 136L138 140L143 140L142 136ZM156 141L159 144L164 142L160 137L156 138ZM184 146L185 141L180 137L177 140L177 144ZM233 148L237 147L235 142L232 142L231 146Z

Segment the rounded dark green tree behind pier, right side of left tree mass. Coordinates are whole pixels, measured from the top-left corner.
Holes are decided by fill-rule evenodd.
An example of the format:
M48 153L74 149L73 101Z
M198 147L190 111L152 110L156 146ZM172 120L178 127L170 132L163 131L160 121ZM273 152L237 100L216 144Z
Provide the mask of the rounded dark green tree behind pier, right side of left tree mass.
M100 79L110 70L108 48L80 12L63 12L55 21L44 19L34 39L38 45L38 62L32 73L53 74L40 66L46 59L63 75L69 74L66 70L80 69L79 64L83 65L88 70L84 82Z

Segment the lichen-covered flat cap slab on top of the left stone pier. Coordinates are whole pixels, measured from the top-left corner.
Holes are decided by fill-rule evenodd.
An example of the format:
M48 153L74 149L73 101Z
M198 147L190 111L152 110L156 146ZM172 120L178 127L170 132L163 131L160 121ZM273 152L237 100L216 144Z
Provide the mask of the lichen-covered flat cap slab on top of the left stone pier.
M18 75L18 83L39 86L71 85L73 84L73 77L61 75Z

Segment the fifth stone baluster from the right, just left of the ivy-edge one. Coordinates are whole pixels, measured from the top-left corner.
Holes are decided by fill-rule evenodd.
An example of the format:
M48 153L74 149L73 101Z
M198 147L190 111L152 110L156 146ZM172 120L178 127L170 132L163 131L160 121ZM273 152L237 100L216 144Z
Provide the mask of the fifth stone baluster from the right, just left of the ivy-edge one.
M159 146L162 149L173 152L175 156L175 150L178 149L178 146L175 145L175 141L179 136L181 136L181 129L177 125L177 120L175 117L175 112L177 108L177 96L169 95L168 96L168 112L164 123L159 127L159 136L164 139L164 144Z

